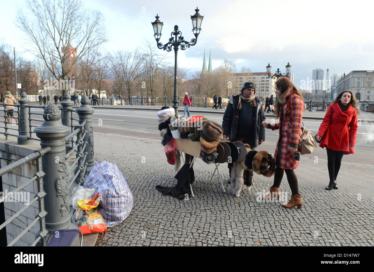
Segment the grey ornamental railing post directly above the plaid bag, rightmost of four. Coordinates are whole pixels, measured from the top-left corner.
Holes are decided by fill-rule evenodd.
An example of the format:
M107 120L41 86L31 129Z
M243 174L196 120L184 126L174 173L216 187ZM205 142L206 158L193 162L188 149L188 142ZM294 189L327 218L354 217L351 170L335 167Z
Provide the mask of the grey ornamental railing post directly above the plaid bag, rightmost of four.
M80 101L81 105L76 109L79 115L79 124L82 124L83 120L87 120L86 123L86 136L83 139L83 142L86 142L86 152L87 152L87 174L92 170L93 165L95 164L95 159L93 158L93 129L92 129L92 114L95 109L91 108L89 105L89 99L87 96L82 96Z

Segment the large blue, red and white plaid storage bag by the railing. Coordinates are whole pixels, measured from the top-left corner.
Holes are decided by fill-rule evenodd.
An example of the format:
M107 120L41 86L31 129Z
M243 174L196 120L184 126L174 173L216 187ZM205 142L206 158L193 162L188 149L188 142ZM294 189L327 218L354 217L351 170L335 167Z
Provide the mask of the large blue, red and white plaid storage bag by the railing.
M134 205L134 197L116 164L96 162L84 183L85 188L95 189L101 194L99 212L104 218L105 226L113 227L125 220Z

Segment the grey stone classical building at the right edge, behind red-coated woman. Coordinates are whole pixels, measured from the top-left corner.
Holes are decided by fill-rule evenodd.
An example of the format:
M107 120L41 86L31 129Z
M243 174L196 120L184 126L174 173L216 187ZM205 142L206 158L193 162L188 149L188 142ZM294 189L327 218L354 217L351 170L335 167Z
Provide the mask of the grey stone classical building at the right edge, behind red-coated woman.
M348 90L357 100L374 100L374 70L350 71L337 82L337 94Z

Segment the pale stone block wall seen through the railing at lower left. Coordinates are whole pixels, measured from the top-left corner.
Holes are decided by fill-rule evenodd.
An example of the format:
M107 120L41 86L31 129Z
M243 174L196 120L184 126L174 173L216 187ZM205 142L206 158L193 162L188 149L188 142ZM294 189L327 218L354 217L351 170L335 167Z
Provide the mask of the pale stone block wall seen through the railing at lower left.
M40 148L39 143L35 142L30 145L18 145L15 141L15 137L10 140L3 140L5 137L0 136L0 162L1 168L14 163L27 155L32 154L34 151ZM10 138L10 137L9 137ZM14 169L12 172L4 174L1 179L3 183L3 193L14 191L17 187L27 182L37 171L36 160L30 161L23 166ZM4 202L4 213L5 220L9 219L19 210L25 207L27 203L30 203L34 196L37 194L37 181L34 180L32 183L27 185L24 189L20 190L23 199L20 194L17 197L12 197L7 202ZM28 225L33 222L36 215L39 213L38 201L30 205L21 215L17 216L6 226L7 243L11 242L16 238ZM0 211L2 212L2 211ZM39 222L36 223L30 231L25 233L21 239L19 239L16 246L29 246L35 241L35 234L39 231Z

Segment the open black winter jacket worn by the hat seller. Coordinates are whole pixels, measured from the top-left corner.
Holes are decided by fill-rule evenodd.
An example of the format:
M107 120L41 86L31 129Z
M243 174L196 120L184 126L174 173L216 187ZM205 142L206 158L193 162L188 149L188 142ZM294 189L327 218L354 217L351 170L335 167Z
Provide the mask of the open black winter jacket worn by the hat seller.
M265 113L263 106L260 100L256 99L257 111L256 111L256 138L255 138L255 147L258 145L258 140L265 140L265 128L261 124L264 121ZM230 102L227 104L226 111L223 115L222 128L223 135L229 136L229 140L235 139L237 136L237 124L239 110L237 105L239 104L239 95L230 95Z

